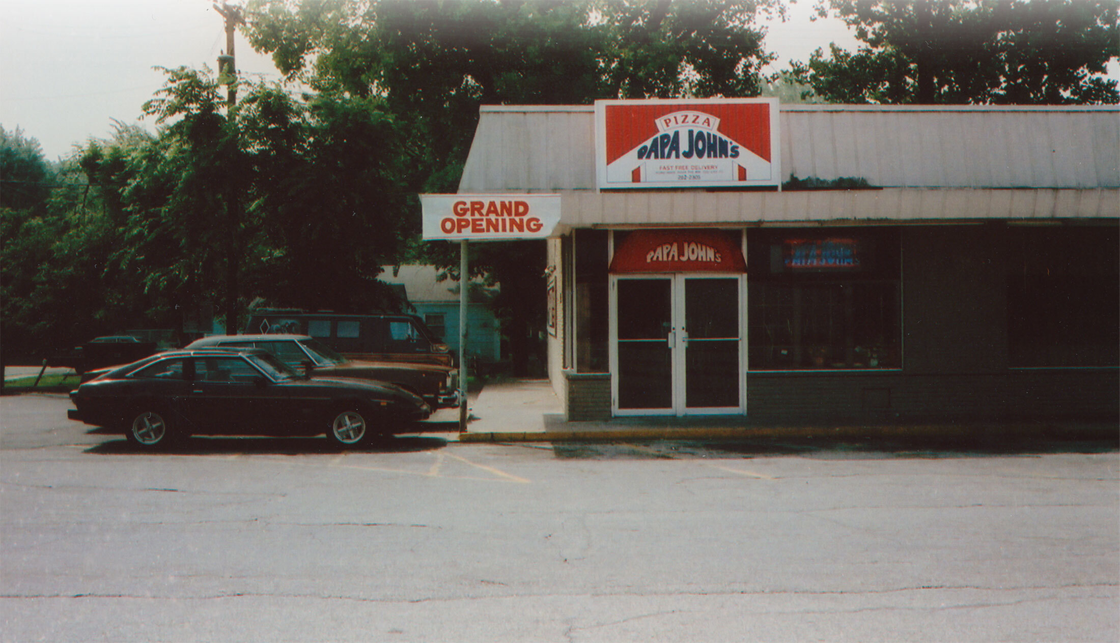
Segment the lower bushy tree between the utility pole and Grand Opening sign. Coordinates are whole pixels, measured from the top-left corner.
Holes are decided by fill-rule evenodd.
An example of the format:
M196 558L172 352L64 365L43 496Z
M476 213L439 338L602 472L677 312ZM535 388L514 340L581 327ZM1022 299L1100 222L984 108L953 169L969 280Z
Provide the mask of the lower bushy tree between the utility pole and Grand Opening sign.
M240 110L260 226L253 292L282 306L399 310L376 277L419 221L400 216L402 168L413 154L393 119L376 98L298 102L277 88L251 94Z

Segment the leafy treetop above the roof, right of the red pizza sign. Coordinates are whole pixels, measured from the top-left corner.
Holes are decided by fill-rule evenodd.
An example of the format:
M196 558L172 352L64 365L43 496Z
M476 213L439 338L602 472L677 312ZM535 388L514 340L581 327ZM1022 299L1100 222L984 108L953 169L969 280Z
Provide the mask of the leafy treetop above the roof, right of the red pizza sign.
M793 74L839 103L1086 104L1120 101L1113 0L831 0L866 47L818 49Z

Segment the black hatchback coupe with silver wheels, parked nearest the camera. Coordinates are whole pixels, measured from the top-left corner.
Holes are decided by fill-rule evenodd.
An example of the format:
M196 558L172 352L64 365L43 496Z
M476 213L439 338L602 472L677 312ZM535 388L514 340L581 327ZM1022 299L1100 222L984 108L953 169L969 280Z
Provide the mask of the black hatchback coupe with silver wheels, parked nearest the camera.
M114 368L71 393L71 419L162 447L192 434L319 435L338 446L400 432L431 407L391 384L298 373L259 349L176 350Z

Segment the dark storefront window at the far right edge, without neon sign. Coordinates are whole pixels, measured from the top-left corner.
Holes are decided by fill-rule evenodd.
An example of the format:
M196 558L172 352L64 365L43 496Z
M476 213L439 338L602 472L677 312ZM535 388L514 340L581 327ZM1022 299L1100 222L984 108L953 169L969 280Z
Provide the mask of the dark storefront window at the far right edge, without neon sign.
M1008 363L1120 365L1118 228L1009 230Z

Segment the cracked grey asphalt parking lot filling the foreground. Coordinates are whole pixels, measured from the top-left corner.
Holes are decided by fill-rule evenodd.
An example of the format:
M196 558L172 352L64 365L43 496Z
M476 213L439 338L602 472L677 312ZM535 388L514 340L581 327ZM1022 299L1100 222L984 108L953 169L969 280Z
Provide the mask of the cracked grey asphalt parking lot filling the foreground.
M1107 442L148 454L67 407L0 398L4 641L1120 640Z

